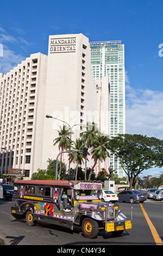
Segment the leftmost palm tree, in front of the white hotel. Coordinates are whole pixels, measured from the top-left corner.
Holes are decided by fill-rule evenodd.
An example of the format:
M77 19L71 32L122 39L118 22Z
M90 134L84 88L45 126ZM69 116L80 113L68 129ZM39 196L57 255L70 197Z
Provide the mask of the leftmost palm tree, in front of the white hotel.
M57 130L58 131L58 130ZM61 151L63 151L65 148L67 149L70 147L70 128L67 127L66 125L63 125L63 127L60 126L60 131L58 131L58 138L54 139L54 144L56 145L59 143L59 148L61 148ZM61 154L61 159L62 159L62 154ZM59 180L60 180L60 174L61 174L61 162L60 162L60 170L59 170Z

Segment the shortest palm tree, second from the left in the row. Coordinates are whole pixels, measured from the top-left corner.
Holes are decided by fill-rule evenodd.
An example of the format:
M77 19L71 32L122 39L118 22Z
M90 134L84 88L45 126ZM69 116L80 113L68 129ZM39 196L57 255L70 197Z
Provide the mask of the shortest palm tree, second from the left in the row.
M74 147L72 149L74 150L82 150L83 147L83 141L82 139L78 138L76 139L75 142L73 142ZM82 157L82 151L81 152L72 152L72 161L77 162L77 168L76 168L76 179L77 180L77 175L78 175L78 164L84 163L83 157Z

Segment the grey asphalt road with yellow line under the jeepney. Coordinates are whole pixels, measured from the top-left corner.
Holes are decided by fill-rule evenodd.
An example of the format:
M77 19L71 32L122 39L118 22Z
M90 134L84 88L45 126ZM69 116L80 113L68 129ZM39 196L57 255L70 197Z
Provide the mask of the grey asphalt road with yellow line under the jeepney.
M102 248L108 245L163 245L163 202L147 200L143 204L118 204L129 219L133 206L133 228L124 231L119 237L99 231L95 239L89 240L83 236L80 227L75 227L71 231L43 222L37 222L34 227L29 227L25 220L10 220L11 202L0 200L0 239L3 238L7 245L90 245ZM151 222L147 222L147 217Z

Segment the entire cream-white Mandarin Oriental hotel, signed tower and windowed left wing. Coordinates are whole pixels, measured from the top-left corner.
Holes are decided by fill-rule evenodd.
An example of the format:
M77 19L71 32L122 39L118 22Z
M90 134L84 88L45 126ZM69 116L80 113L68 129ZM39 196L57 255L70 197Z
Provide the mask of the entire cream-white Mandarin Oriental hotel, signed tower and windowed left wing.
M32 54L7 74L0 74L0 172L30 177L56 159L53 146L66 121L79 137L96 109L89 39L83 34L49 36L48 56ZM93 120L95 121L95 120ZM74 139L74 137L72 139ZM2 149L5 148L5 149Z

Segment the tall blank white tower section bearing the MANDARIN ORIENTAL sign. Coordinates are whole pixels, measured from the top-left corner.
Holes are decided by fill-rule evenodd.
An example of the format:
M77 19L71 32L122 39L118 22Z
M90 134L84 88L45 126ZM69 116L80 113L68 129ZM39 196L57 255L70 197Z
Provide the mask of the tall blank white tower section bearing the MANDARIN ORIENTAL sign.
M96 84L91 70L89 39L83 34L49 36L45 116L50 114L72 127L72 139L79 138L96 109ZM94 120L95 121L95 120ZM58 137L59 120L44 120L42 168L47 166L47 152L57 157L53 145ZM57 151L56 151L57 150ZM65 155L66 157L66 155Z

